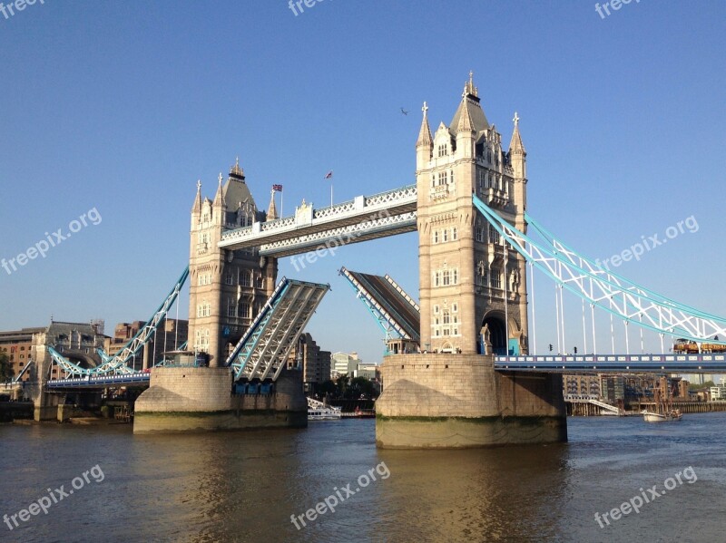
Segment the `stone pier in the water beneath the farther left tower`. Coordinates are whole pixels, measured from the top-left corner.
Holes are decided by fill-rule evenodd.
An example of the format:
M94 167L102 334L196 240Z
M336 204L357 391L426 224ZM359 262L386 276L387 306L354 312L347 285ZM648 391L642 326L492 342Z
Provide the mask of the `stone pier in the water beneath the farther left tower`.
M270 394L232 395L230 368L161 367L134 407L133 432L305 427L308 404L297 370L283 370Z

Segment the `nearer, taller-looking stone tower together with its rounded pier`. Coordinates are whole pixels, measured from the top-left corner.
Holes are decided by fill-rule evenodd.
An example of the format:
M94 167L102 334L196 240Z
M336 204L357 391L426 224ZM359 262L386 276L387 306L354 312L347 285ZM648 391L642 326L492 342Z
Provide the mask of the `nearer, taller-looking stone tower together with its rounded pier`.
M416 143L421 349L389 354L376 443L391 449L566 441L562 377L499 372L494 354L527 353L526 262L502 246L476 194L525 229L525 147L486 121L469 74L454 119ZM484 353L482 351L485 351Z

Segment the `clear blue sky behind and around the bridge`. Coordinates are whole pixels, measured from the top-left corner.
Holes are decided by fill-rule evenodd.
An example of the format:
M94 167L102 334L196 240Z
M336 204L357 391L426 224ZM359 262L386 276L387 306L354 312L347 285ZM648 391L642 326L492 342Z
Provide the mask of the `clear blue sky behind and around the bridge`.
M450 121L469 70L506 142L521 117L535 218L605 258L693 216L697 232L617 271L726 314L725 16L716 0L633 0L604 19L591 2L464 0L325 0L297 16L284 0L45 0L0 15L0 257L89 209L103 218L0 269L0 329L147 318L188 261L197 179L213 196L238 155L260 208L284 185L286 215L328 204L328 170L336 201L414 182L421 104ZM379 362L378 326L337 270L417 296L416 261L412 233L280 272L332 286L309 325L323 348ZM542 350L554 288L535 281ZM565 342L582 348L580 311L567 300Z

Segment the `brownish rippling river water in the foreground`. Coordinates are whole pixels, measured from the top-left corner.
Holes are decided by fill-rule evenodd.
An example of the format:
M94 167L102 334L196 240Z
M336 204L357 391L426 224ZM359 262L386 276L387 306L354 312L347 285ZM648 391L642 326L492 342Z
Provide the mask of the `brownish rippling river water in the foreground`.
M373 420L170 436L0 425L13 527L0 541L726 541L725 412L570 418L568 431L556 445L382 451ZM612 519L637 497L639 513ZM15 527L39 500L47 513Z

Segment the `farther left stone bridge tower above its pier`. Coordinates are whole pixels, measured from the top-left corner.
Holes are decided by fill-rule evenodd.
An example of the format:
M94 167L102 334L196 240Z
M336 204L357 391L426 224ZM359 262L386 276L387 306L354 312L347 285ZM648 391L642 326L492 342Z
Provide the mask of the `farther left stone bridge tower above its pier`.
M211 366L223 364L231 349L270 297L277 280L276 258L260 257L257 248L217 247L224 230L277 218L274 199L260 211L245 182L239 160L213 200L201 198L201 183L191 208L189 251L190 351L210 354Z

